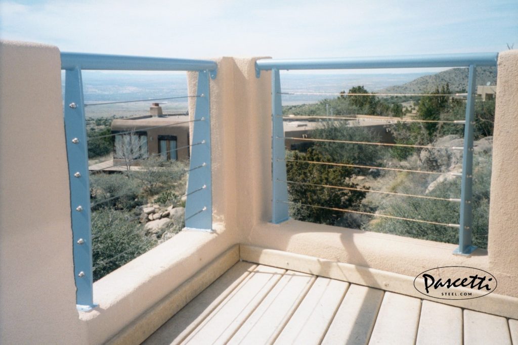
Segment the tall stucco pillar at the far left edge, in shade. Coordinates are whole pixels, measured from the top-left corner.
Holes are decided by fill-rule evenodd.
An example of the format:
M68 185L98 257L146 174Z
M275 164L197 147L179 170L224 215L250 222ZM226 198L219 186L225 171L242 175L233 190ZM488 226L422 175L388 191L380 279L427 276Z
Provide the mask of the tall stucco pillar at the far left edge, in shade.
M2 344L85 338L74 326L60 69L56 47L0 42Z

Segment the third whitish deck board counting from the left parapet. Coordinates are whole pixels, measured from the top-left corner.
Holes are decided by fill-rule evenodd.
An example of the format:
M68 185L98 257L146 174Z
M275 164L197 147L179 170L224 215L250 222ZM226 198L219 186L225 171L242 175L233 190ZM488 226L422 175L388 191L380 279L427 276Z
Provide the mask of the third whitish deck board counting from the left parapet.
M270 344L303 301L316 277L288 271L239 328L229 344Z

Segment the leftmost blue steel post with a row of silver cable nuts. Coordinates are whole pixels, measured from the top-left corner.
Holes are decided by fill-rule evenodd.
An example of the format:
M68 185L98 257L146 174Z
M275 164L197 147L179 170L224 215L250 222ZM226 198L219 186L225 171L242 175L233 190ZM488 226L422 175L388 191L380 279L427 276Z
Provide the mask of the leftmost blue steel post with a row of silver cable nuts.
M76 303L90 310L93 303L92 233L90 230L90 182L88 146L83 106L81 69L65 72L65 137L70 180Z

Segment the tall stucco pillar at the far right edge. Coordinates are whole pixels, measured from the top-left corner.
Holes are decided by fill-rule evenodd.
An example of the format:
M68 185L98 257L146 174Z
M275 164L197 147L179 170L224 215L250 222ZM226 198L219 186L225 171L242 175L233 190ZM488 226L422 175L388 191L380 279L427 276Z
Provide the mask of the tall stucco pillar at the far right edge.
M518 294L518 50L498 55L488 251Z

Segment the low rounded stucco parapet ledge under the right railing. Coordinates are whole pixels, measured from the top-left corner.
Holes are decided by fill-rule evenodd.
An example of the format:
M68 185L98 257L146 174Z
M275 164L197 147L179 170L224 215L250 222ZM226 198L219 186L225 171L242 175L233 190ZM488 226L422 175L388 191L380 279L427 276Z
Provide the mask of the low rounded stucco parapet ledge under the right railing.
M281 224L257 224L242 243L413 277L435 267L476 267L496 276L499 294L518 297L513 268L516 263L502 270L492 265L487 251L480 248L470 256L457 256L452 254L457 247L453 244L293 219Z

